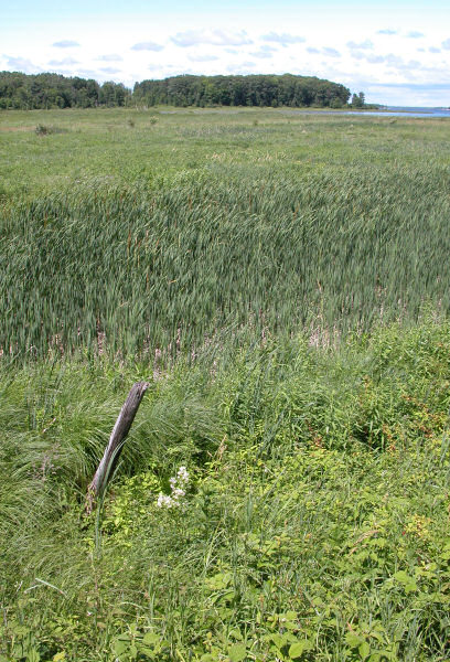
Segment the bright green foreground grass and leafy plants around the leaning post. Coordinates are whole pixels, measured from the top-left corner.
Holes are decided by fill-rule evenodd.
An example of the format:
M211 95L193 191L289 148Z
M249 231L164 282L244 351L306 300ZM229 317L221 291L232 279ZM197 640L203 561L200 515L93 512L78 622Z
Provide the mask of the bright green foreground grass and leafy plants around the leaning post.
M213 374L180 361L97 524L86 484L141 373L3 371L0 654L447 659L449 341L424 320L332 352L242 348ZM185 508L158 509L181 465Z

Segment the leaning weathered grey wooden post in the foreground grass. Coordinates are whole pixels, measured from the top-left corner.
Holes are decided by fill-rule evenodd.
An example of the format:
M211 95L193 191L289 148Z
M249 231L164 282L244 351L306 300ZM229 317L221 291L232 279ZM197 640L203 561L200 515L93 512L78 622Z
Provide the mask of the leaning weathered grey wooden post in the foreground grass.
M150 384L148 382L137 382L133 384L120 409L120 414L109 437L108 446L106 447L101 461L97 467L97 471L87 488L86 511L88 513L93 512L97 498L103 494L109 478L113 476L114 468L116 467L117 460L124 448L125 439L135 420L143 394L149 386Z

